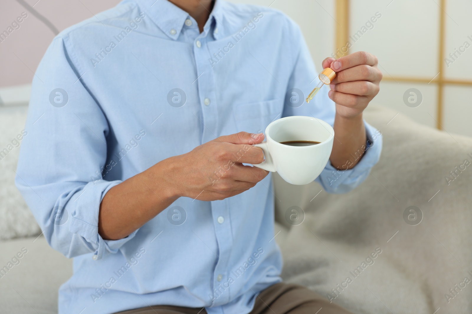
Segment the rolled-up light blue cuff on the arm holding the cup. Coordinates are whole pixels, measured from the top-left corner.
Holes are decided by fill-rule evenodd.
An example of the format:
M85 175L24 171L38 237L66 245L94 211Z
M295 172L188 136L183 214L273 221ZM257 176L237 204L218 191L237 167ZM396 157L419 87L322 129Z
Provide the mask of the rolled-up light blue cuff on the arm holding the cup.
M119 248L133 239L137 230L129 234L126 238L119 240L104 240L98 233L98 214L100 203L105 194L121 181L89 182L81 191L78 191L77 198L70 202L77 202L71 214L69 231L76 233L85 242L90 252L93 252L97 259L103 258L106 253L117 253ZM94 258L95 259L95 258Z

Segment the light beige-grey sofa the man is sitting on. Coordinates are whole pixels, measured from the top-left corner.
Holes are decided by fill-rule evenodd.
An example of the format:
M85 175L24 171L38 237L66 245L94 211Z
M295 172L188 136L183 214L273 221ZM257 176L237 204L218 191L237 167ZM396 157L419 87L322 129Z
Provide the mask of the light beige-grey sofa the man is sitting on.
M0 313L50 314L72 260L48 246L13 184L19 149L8 144L26 110L0 108L0 149L13 147L0 160L0 268L11 266ZM383 151L350 193L274 174L282 277L357 314L472 313L472 139L396 114L366 110Z

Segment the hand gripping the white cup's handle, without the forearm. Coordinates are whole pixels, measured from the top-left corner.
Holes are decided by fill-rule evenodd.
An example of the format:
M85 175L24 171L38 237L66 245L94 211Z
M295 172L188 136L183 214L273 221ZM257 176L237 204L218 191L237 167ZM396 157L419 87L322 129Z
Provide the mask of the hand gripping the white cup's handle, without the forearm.
M249 190L269 172L243 163L258 164L264 154L253 144L264 135L239 132L218 137L189 153L169 158L166 177L174 197L215 201Z

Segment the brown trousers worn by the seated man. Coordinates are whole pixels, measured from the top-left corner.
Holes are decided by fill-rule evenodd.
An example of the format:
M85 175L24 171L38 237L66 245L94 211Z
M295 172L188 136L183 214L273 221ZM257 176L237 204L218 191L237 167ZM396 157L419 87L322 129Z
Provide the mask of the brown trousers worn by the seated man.
M116 314L207 314L204 308L148 306ZM312 290L285 282L261 291L250 314L352 314Z

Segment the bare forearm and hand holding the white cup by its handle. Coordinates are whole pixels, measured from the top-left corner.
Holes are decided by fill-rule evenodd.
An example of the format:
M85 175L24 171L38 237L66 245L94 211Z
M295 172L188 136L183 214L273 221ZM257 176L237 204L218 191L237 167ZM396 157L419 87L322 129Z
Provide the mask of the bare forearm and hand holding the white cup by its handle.
M101 237L126 237L181 196L216 201L250 189L269 174L242 164L264 160L262 149L252 146L263 139L246 132L218 137L113 186L100 204Z

